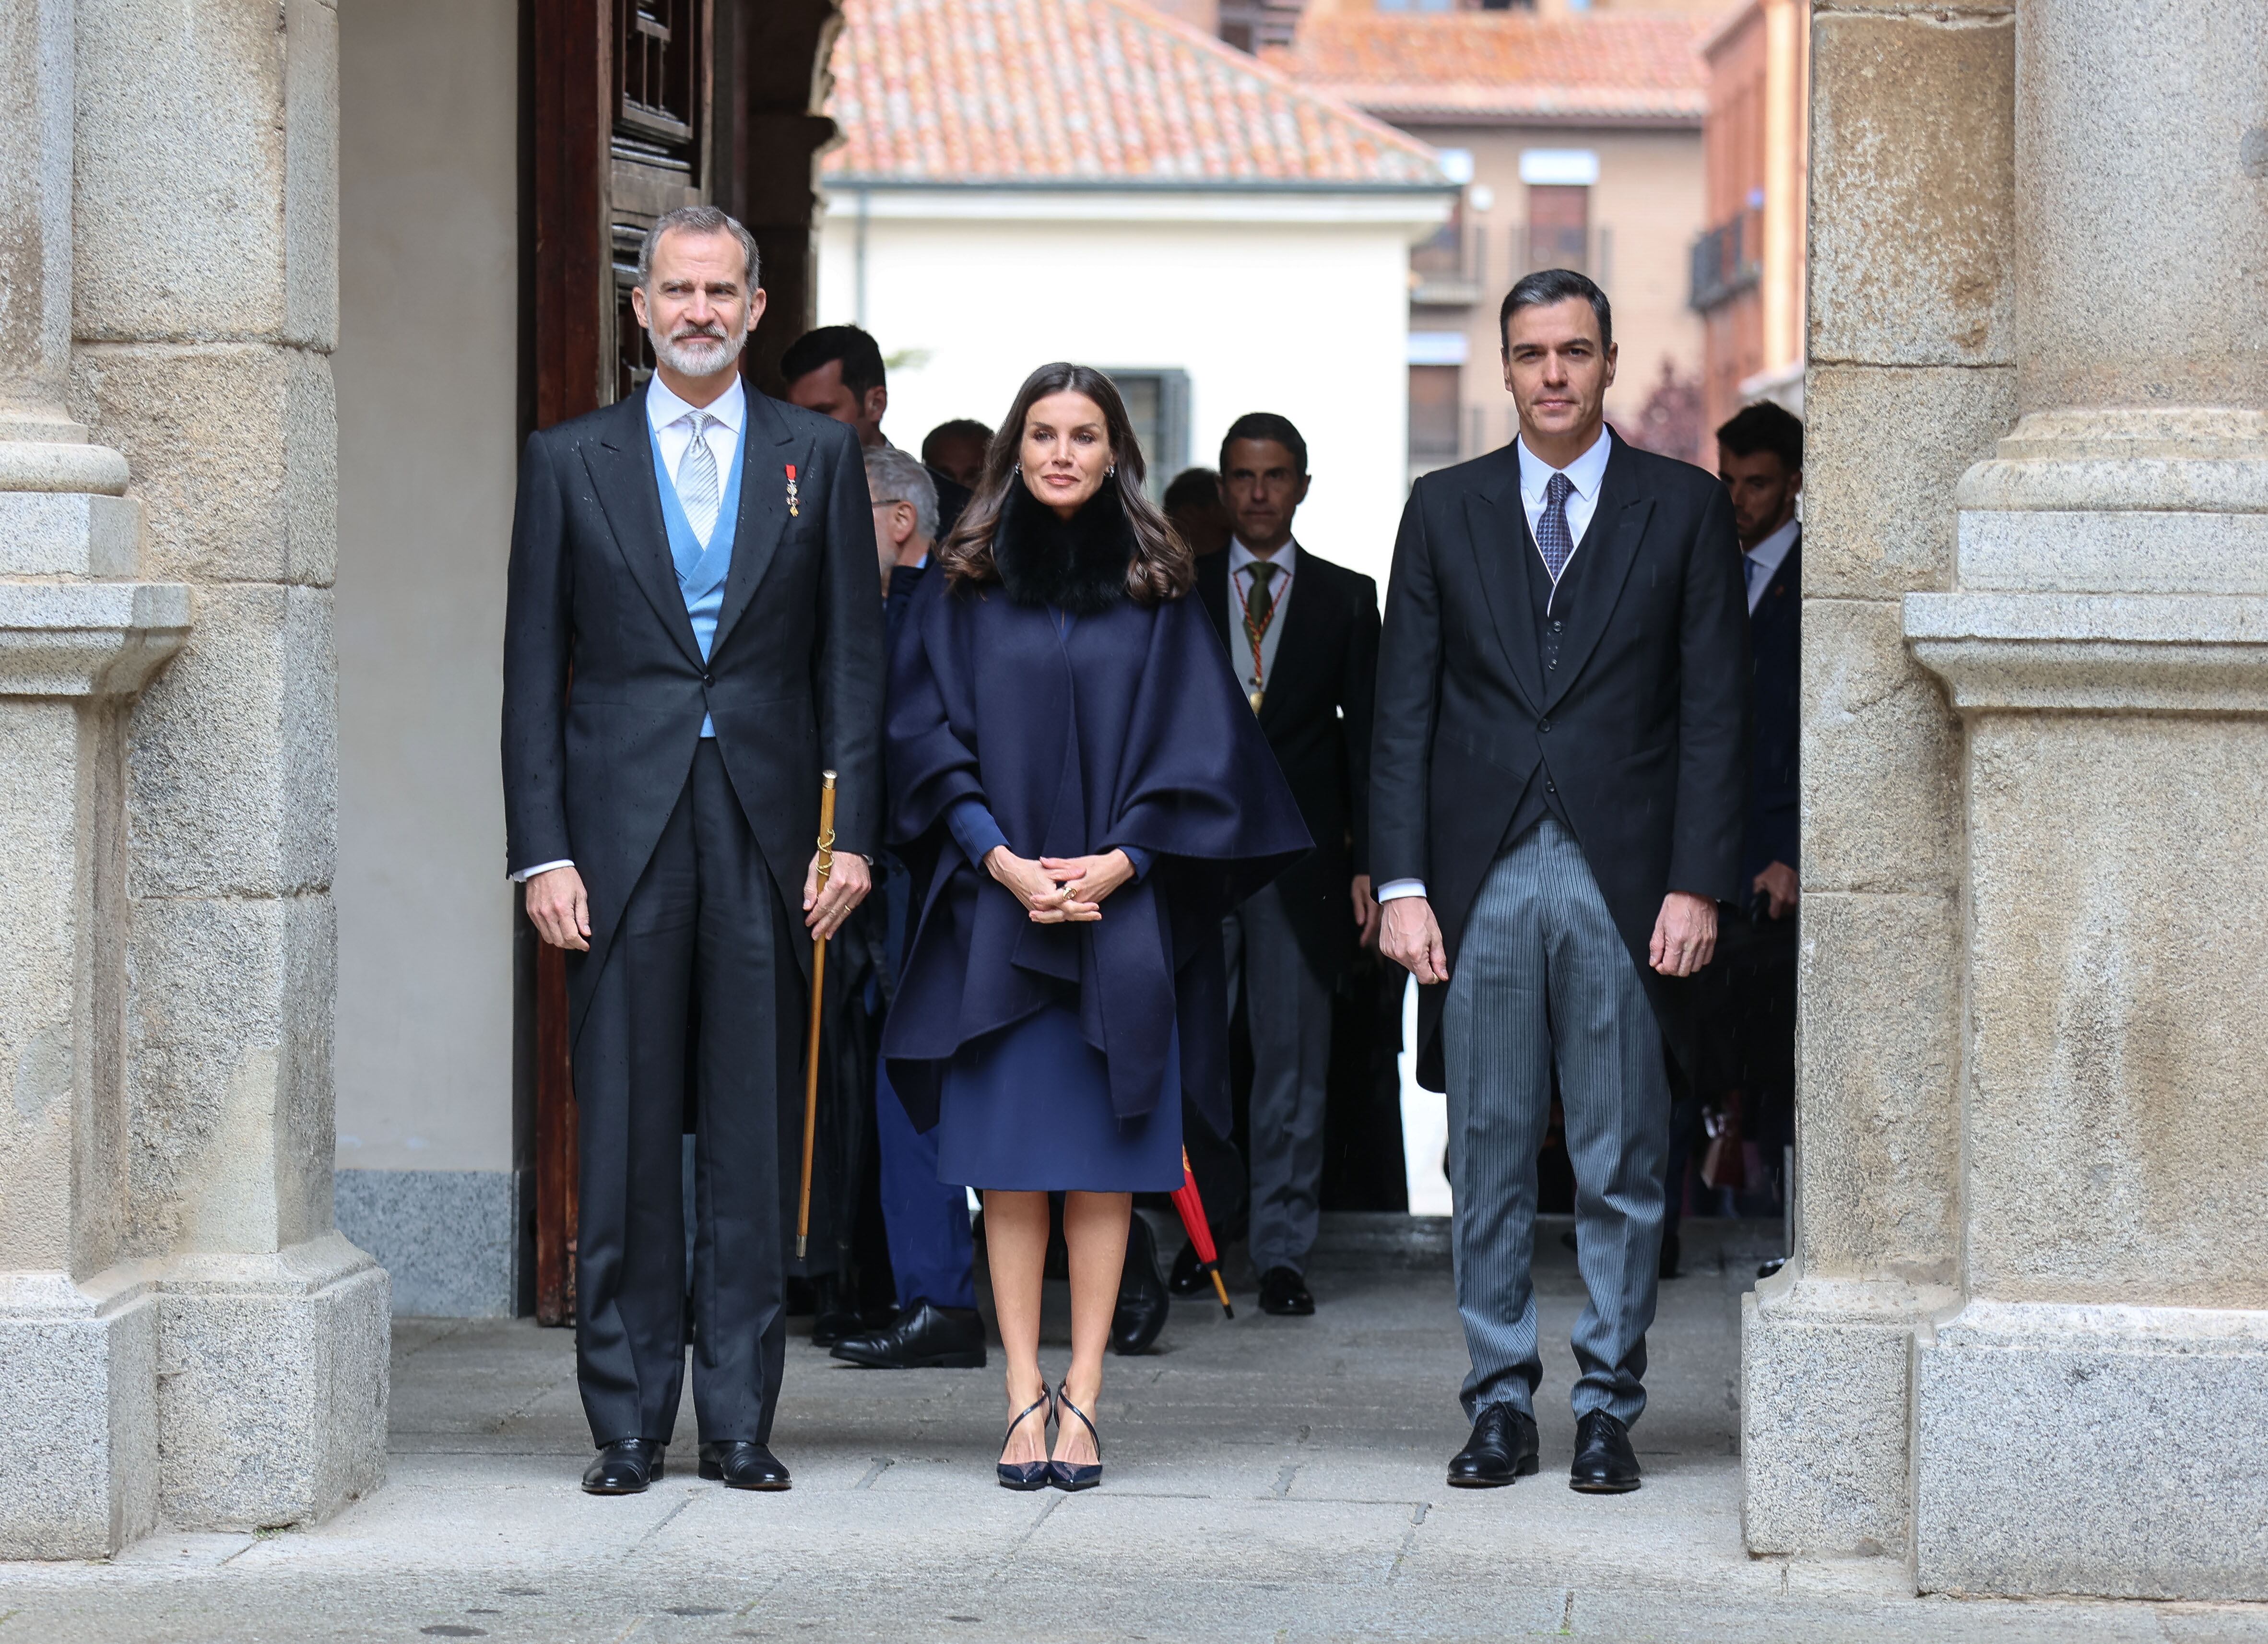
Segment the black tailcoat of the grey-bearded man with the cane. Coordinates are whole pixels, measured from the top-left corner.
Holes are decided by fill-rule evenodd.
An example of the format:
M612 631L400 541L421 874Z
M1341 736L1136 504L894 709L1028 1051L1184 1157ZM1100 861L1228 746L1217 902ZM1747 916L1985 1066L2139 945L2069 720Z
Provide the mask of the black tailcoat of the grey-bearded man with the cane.
M669 560L635 392L528 435L503 617L503 828L510 871L574 859L590 957L576 1023L662 823L703 710L785 907L801 927L832 769L835 848L882 828L882 601L857 435L748 390L733 565L701 660ZM787 485L794 467L796 512ZM572 680L572 683L569 683ZM792 943L810 968L807 943Z

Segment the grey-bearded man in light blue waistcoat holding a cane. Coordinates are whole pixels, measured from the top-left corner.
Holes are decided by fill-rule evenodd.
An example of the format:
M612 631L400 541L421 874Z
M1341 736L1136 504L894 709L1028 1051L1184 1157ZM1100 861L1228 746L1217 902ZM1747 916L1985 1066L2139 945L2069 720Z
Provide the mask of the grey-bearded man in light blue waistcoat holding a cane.
M687 1107L701 1474L787 1488L769 1449L782 1204L801 1163L787 1093L812 937L866 896L880 828L866 474L841 424L742 385L755 277L739 222L712 206L665 215L631 295L653 379L531 435L519 469L503 814L528 918L567 950L594 1494L660 1478L676 1424ZM839 778L823 893L821 766Z

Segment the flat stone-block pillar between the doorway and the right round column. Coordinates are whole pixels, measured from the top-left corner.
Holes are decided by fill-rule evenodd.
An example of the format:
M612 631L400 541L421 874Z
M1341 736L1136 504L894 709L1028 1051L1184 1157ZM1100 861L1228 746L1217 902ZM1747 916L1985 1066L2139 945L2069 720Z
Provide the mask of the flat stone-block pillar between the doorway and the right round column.
M2016 415L2003 0L1812 7L1796 1215L1742 1322L1755 1553L1912 1546L1907 1358L1960 1306L1960 721L1901 601Z

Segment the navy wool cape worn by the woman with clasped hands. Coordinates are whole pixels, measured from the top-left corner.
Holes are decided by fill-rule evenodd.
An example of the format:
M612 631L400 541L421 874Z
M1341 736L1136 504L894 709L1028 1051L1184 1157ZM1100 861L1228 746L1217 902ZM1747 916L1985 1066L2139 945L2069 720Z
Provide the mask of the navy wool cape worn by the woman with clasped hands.
M1066 1005L1109 1063L1120 1120L1157 1107L1179 1027L1182 1093L1227 1134L1220 921L1311 839L1220 637L1188 599L1066 619L998 583L923 583L885 723L889 837L925 880L882 1032L907 1116L937 1125L962 1045ZM1021 857L1139 846L1152 866L1100 921L1034 925L953 839L946 816L966 798Z

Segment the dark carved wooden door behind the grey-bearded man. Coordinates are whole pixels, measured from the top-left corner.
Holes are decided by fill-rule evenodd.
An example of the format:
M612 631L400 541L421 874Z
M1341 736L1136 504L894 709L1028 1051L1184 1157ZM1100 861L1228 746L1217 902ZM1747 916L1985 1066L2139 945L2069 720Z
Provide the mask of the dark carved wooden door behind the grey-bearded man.
M719 204L762 245L771 297L748 358L758 383L812 324L814 161L837 0L524 0L528 95L528 417L608 406L653 370L631 315L655 218ZM535 946L535 1317L574 1320L576 1107L567 966Z

